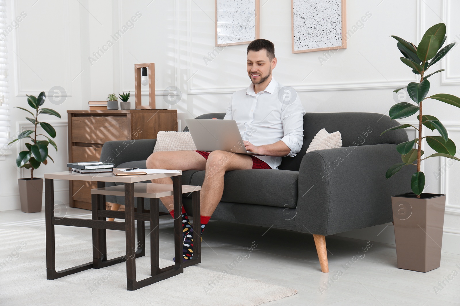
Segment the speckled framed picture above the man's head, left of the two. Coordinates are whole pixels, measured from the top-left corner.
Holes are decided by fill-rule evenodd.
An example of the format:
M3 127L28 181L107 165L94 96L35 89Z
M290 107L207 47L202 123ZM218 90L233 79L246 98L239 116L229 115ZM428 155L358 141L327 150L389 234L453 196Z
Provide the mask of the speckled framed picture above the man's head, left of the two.
M232 10L238 5L245 9ZM227 8L225 14L221 13L223 8ZM215 0L216 47L244 45L259 39L259 13L260 0Z

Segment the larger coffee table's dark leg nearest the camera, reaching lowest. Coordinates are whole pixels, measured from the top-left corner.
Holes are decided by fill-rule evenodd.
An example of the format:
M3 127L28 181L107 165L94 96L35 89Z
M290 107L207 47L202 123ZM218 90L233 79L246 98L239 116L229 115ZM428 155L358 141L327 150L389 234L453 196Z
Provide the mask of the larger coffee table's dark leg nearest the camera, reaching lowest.
M134 229L134 184L125 183L127 289L136 290L136 234Z

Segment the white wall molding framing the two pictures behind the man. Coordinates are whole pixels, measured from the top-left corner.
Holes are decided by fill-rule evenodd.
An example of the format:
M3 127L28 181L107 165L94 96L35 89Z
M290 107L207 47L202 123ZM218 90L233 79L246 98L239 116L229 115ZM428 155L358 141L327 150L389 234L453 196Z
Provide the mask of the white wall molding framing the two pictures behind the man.
M212 89L204 89L204 88L193 88L193 62L192 62L192 54L193 54L193 42L192 42L192 10L191 10L191 0L187 0L187 94L188 95L223 95L223 94L233 94L235 91L246 88L236 88L236 87L224 87L224 88L212 88ZM426 15L426 4L424 0L417 0L416 2L416 39L420 41L423 35L423 28L422 22L425 21ZM196 72L195 72L196 73ZM318 83L318 84L311 84L311 85L293 85L293 89L297 92L316 92L316 91L339 91L339 90L362 90L362 89L395 89L398 87L403 87L407 85L409 82L416 81L416 76L413 79L409 80L394 80L391 82L379 82L379 81L372 81L372 82L339 82L339 83Z

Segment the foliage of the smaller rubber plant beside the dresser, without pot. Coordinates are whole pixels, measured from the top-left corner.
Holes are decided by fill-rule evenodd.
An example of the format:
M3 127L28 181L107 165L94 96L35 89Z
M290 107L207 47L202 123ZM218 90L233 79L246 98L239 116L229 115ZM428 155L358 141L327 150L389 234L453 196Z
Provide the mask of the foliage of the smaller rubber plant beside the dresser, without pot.
M51 144L57 152L57 145L51 139L56 137L56 130L52 127L51 124L39 121L38 116L43 114L52 115L60 118L61 115L57 111L54 111L50 108L40 108L40 106L42 106L43 103L45 103L45 98L46 95L43 91L38 95L38 97L35 97L33 95L27 95L27 102L29 103L29 106L33 108L33 112L23 107L15 106L16 108L22 109L23 111L27 111L28 113L30 113L32 117L26 117L26 119L34 124L34 130L26 130L21 132L21 134L17 136L17 139L14 139L10 142L10 144L12 144L18 141L19 139L30 138L31 142L25 143L27 150L21 151L17 155L16 165L20 168L30 169L31 179L34 178L34 170L40 167L42 163L46 165L48 163L48 159L50 159L54 163L52 157L48 155L48 145ZM37 127L39 125L51 138L44 134L37 134ZM46 138L46 140L39 140L37 139L38 136L42 136Z

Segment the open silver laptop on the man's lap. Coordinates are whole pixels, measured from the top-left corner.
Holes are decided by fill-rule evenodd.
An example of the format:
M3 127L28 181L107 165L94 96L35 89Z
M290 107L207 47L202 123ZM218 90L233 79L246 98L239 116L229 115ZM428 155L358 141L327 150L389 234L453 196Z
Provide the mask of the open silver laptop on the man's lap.
M235 120L185 119L185 122L197 150L262 156L246 150Z

